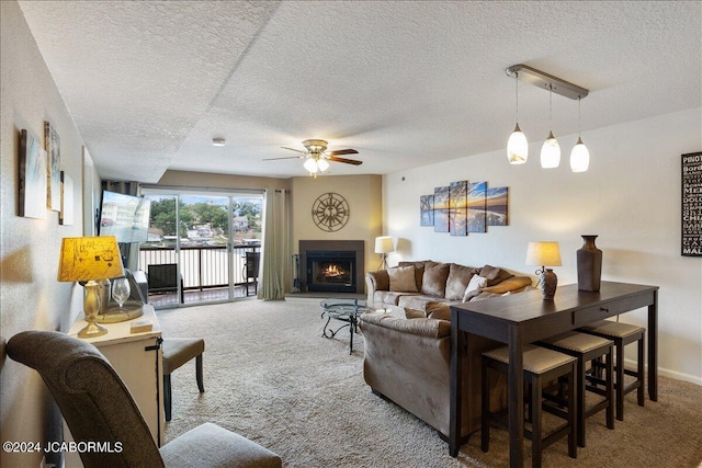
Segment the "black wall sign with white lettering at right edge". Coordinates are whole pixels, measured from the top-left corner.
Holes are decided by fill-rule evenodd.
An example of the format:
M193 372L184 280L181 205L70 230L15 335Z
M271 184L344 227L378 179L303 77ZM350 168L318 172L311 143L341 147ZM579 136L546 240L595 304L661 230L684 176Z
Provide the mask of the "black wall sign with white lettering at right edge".
M682 155L681 255L702 256L702 152Z

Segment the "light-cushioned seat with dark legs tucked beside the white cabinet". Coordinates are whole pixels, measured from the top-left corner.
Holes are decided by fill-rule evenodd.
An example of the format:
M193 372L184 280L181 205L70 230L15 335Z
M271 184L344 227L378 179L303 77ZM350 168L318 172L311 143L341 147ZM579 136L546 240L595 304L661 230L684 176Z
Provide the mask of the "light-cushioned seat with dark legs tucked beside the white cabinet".
M202 353L205 351L205 340L202 338L166 339L161 343L163 353L163 411L166 421L171 420L171 373L195 358L195 379L202 393L205 391L202 379Z

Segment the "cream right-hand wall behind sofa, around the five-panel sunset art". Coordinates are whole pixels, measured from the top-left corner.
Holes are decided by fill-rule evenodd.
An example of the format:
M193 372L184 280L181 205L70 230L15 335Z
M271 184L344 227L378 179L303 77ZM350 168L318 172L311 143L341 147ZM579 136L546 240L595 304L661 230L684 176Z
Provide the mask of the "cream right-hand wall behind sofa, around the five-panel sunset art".
M680 156L702 150L701 115L697 107L586 132L591 162L585 173L570 172L568 164L577 135L558 138L564 156L557 169L540 168L540 140L530 145L523 165L510 167L499 150L390 173L383 182L384 224L399 238L390 264L490 263L533 275L524 264L526 243L556 240L563 266L554 271L559 284L569 284L577 282L580 235L598 235L603 279L660 286L661 374L702 385L702 258L680 255ZM506 127L506 141L508 136ZM509 226L468 237L420 227L419 196L460 180L508 186ZM623 317L646 324L645 309Z

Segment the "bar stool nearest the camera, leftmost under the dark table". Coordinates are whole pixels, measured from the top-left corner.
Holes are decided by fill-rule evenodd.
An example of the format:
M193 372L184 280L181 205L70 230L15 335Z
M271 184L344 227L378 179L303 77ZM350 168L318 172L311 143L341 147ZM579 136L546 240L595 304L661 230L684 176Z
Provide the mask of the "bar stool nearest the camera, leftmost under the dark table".
M577 359L557 351L528 344L523 349L524 381L529 384L531 393L530 413L531 431L524 427L524 436L531 440L532 466L541 466L542 450L554 442L568 436L568 456L577 458L578 447L576 444L576 386L575 370ZM507 346L483 353L482 366L482 438L480 448L488 452L490 443L490 421L505 423L503 418L490 412L489 393L490 384L488 380L488 369L507 373L509 369L509 349ZM552 379L565 377L568 389L567 412L547 402L542 402L543 385ZM548 434L542 435L542 410L547 411L558 418L566 420L566 423L554 429Z

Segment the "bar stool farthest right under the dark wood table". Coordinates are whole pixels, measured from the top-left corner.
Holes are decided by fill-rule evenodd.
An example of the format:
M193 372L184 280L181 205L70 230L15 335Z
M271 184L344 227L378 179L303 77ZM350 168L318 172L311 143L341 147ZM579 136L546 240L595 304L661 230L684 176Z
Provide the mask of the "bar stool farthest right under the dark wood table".
M632 326L629 323L612 322L610 320L600 320L578 329L581 332L602 336L614 342L616 349L616 364L614 365L615 379L614 391L616 393L616 419L624 421L624 396L636 390L638 406L644 406L644 334L645 328ZM636 370L624 368L624 346L627 344L638 343L638 362ZM600 367L601 363L593 362L593 366ZM635 377L635 380L626 385L624 375Z

